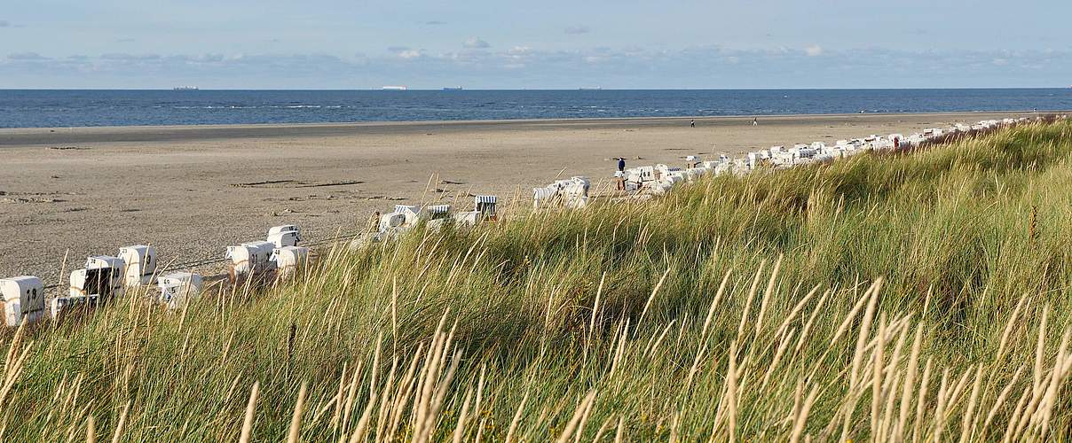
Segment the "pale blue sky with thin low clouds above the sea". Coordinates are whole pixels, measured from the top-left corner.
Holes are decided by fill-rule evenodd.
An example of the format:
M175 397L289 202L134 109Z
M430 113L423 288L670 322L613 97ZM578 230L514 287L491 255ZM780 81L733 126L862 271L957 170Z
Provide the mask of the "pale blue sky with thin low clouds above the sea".
M9 0L0 89L1072 85L1072 1Z

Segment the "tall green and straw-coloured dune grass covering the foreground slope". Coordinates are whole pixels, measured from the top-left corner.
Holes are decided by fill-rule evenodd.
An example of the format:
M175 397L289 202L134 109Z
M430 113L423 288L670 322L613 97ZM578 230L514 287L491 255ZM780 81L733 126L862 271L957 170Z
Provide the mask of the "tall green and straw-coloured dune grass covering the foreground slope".
M14 441L1068 438L1072 124L521 208L5 333Z

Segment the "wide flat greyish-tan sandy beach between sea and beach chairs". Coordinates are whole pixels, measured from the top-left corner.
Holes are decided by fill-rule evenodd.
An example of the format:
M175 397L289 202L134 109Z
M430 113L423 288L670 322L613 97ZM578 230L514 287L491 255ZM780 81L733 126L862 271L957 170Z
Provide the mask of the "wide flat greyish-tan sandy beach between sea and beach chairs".
M307 241L396 203L527 199L557 177L1029 112L0 129L0 276L62 282L86 256L152 244L223 257L274 225ZM640 159L637 159L640 158ZM472 199L461 198L467 208Z

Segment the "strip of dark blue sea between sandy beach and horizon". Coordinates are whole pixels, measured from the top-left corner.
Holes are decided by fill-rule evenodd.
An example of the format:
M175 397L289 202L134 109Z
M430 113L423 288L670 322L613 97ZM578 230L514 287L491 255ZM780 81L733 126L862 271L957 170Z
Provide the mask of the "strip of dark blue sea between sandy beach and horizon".
M0 90L0 127L1072 109L1072 89Z

